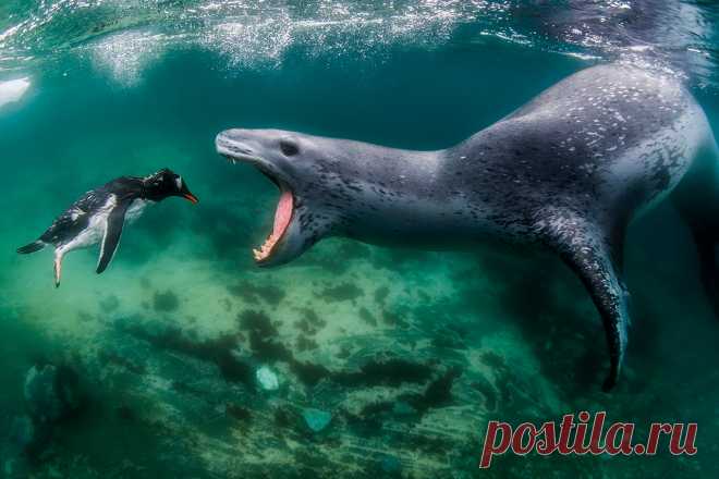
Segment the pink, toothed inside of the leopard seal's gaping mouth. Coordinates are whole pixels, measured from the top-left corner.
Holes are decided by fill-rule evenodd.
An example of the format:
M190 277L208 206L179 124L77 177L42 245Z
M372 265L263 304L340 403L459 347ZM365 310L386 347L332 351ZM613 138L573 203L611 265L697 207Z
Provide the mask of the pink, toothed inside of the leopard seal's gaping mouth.
M257 263L266 262L276 251L279 244L282 243L284 234L290 228L292 222L292 214L294 212L294 195L290 186L276 174L266 161L261 158L252 155L248 150L244 150L239 146L220 145L218 143L218 152L222 155L228 161L236 164L239 161L245 161L254 164L265 176L267 176L280 191L280 200L278 201L277 209L275 210L275 223L272 232L267 236L265 243L258 248L253 249L253 256Z

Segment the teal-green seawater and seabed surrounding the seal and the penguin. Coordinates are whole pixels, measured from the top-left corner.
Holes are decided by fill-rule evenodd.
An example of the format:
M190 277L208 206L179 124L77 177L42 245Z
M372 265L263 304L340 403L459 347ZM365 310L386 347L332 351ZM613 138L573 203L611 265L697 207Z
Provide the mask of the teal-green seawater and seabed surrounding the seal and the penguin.
M718 21L699 1L4 0L0 470L717 477L719 320L669 206L629 232L630 347L605 394L601 323L557 258L331 238L259 269L251 249L277 188L214 139L277 127L444 148L608 61L682 77L717 132ZM50 251L15 253L84 192L163 167L200 202L148 208L102 275L96 248L73 251L56 290ZM81 393L23 454L38 364L73 371ZM698 453L507 454L477 468L489 420L580 410L644 431L697 422Z

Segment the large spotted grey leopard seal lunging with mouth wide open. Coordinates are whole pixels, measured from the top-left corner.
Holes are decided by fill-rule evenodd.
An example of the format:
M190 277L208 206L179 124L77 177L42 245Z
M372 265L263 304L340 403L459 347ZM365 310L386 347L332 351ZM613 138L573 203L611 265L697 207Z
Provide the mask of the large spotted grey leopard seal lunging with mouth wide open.
M707 265L707 291L719 284L716 143L688 90L660 73L588 67L436 151L240 128L220 133L216 147L281 192L273 230L254 251L260 266L285 263L330 235L428 248L499 240L556 253L601 317L605 391L626 349L622 251L634 218L671 196Z

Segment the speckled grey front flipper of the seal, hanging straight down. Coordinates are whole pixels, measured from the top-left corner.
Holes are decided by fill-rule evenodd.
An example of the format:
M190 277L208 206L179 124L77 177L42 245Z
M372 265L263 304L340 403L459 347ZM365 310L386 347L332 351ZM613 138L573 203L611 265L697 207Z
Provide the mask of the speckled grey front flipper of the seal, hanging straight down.
M571 211L556 211L537 223L543 237L580 277L605 326L610 369L602 390L617 383L626 349L629 295L616 266L623 238ZM613 238L613 244L609 238Z

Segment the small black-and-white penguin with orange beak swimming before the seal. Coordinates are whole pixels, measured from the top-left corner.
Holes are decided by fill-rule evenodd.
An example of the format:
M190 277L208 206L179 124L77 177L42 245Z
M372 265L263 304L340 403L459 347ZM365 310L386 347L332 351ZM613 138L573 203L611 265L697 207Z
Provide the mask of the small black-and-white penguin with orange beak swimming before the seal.
M148 204L170 196L197 202L197 197L190 193L182 176L167 168L145 177L120 176L85 193L37 241L19 248L17 253L27 255L53 245L54 286L59 287L65 253L101 243L97 262L99 274L118 249L125 221L136 220Z

